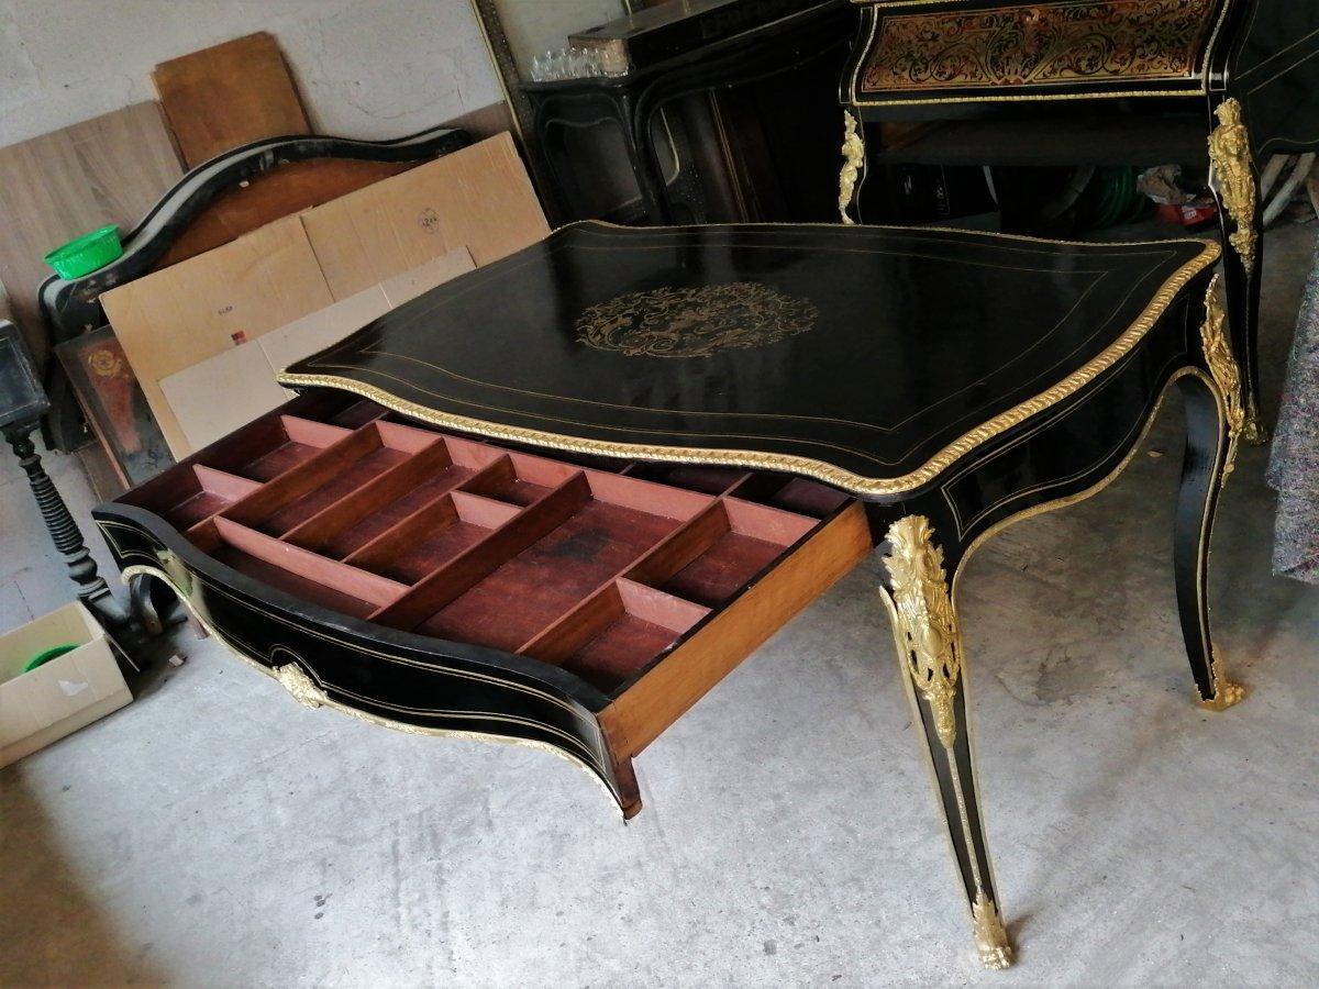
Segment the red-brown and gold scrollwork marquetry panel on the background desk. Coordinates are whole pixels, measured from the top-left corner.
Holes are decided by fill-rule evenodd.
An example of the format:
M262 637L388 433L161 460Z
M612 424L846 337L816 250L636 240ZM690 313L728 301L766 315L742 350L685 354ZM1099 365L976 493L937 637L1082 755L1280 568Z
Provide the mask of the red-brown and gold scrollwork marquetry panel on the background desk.
M1223 0L874 4L855 103L1202 88Z

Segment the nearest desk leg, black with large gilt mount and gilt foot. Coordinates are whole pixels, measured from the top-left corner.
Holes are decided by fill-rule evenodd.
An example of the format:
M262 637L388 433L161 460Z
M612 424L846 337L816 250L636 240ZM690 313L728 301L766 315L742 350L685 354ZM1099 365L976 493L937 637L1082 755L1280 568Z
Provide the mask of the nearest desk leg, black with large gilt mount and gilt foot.
M1008 968L1012 944L998 910L980 806L976 799L966 691L962 686L962 634L952 608L943 551L923 516L909 516L888 531L889 571L884 597L914 723L929 748L938 799L971 910L972 932L987 968Z

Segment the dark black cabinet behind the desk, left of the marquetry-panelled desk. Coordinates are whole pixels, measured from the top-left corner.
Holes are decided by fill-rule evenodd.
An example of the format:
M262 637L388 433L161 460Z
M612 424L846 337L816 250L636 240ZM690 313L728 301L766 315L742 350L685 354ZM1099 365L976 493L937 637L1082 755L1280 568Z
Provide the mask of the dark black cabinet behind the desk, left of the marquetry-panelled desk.
M803 0L723 16L735 13L731 37L694 30L681 53L625 75L521 83L563 220L832 218L836 135L820 107L832 103L856 12Z

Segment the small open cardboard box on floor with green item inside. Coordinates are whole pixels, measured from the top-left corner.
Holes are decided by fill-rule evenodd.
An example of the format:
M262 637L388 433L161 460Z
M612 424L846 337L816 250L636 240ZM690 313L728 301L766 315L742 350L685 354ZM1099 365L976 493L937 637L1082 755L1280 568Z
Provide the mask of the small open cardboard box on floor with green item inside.
M78 647L32 673L38 653ZM77 601L0 636L0 766L17 762L133 699L104 630Z

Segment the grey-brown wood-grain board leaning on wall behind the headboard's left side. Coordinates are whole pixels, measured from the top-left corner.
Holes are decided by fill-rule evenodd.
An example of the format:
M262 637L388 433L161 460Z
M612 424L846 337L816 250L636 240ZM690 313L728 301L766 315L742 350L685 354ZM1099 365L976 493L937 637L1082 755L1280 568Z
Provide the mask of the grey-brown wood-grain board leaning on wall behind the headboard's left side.
M107 223L127 231L183 174L156 103L0 148L0 281L38 361L37 287L51 248Z

